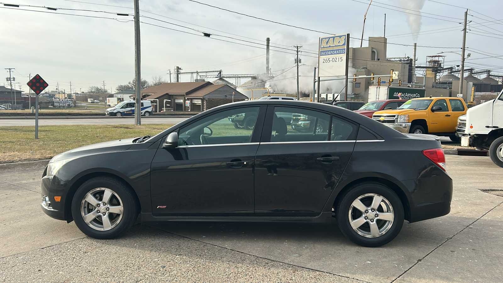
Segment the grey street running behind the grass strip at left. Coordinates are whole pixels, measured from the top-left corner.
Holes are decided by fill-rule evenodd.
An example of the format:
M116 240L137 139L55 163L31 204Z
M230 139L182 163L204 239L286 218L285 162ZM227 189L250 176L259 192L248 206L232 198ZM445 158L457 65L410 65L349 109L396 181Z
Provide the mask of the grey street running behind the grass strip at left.
M182 118L143 118L142 124L178 124L189 117ZM34 126L35 119L0 119L0 126ZM134 125L134 117L78 118L78 119L39 119L39 126L47 125Z

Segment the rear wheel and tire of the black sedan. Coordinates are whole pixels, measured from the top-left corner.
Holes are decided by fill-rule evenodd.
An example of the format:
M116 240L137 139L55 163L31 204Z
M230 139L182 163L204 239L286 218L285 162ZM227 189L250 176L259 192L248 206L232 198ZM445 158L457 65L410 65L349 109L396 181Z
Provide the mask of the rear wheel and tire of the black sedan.
M372 205L376 199L381 201ZM377 182L361 183L350 188L334 210L344 236L364 247L389 243L403 226L400 198L389 187Z

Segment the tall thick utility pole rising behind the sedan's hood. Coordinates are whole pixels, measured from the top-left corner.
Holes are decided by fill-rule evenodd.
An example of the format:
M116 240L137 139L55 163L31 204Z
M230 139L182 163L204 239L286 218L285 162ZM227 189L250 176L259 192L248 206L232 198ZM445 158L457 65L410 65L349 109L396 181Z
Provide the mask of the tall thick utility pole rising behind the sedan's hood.
M138 0L134 0L134 77L136 84L134 86L135 105L134 105L134 124L141 125L141 60L140 60L140 7Z

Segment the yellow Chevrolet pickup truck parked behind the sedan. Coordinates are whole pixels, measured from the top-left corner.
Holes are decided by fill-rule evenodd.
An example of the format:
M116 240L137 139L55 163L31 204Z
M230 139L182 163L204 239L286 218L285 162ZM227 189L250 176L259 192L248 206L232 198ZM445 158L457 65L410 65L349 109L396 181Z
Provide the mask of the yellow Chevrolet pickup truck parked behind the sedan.
M443 135L459 142L456 126L458 117L466 114L466 109L462 98L414 98L396 110L377 111L372 119L399 132Z

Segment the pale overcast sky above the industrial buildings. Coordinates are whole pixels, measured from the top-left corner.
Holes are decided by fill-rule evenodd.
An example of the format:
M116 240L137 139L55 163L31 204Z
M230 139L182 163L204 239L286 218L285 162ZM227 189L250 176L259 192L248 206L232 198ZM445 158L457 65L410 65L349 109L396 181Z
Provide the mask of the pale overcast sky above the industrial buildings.
M103 87L103 81L105 88L115 92L117 85L134 78L133 17L115 14L132 14L133 0L8 1L10 4L58 8L50 11L0 5L0 67L16 68L13 77L21 83L16 84L16 89L21 86L28 90L26 82L30 73L32 76L38 73L46 79L50 84L48 90L55 90L56 83L59 83L59 88L66 92L70 90L70 81L73 92L85 91L90 86ZM301 78L301 86L307 89L311 86L312 89L309 76L317 63L318 38L350 33L350 46L359 47L358 38L361 38L363 17L369 3L368 0L197 1L315 31L266 22L190 0L141 0L143 79L150 81L152 76L162 76L169 82L167 73L170 69L173 73L175 65L182 67L182 72L222 69L223 74L264 73L263 44L270 37L270 67L273 73L281 74L277 79L282 84L295 85L295 68L289 70L295 65L295 48L292 46L302 45L304 65L300 72L305 77ZM59 10L61 8L110 13ZM425 64L427 55L442 51L460 52L462 25L459 23L463 21L464 11L469 9L468 21L471 23L466 46L471 57L466 61L466 67L490 68L493 74L502 74L502 8L500 0L378 0L368 11L364 39L383 35L386 13L387 56L412 56L412 47L404 45L416 41L418 46L431 46L417 48L417 64ZM420 10L422 16L412 15L417 14L414 10ZM207 38L202 32L212 35ZM368 42L363 41L363 46L367 45ZM447 55L446 66L460 64L460 55L443 55ZM4 78L9 75L4 74ZM183 82L190 79L190 75L182 77Z

